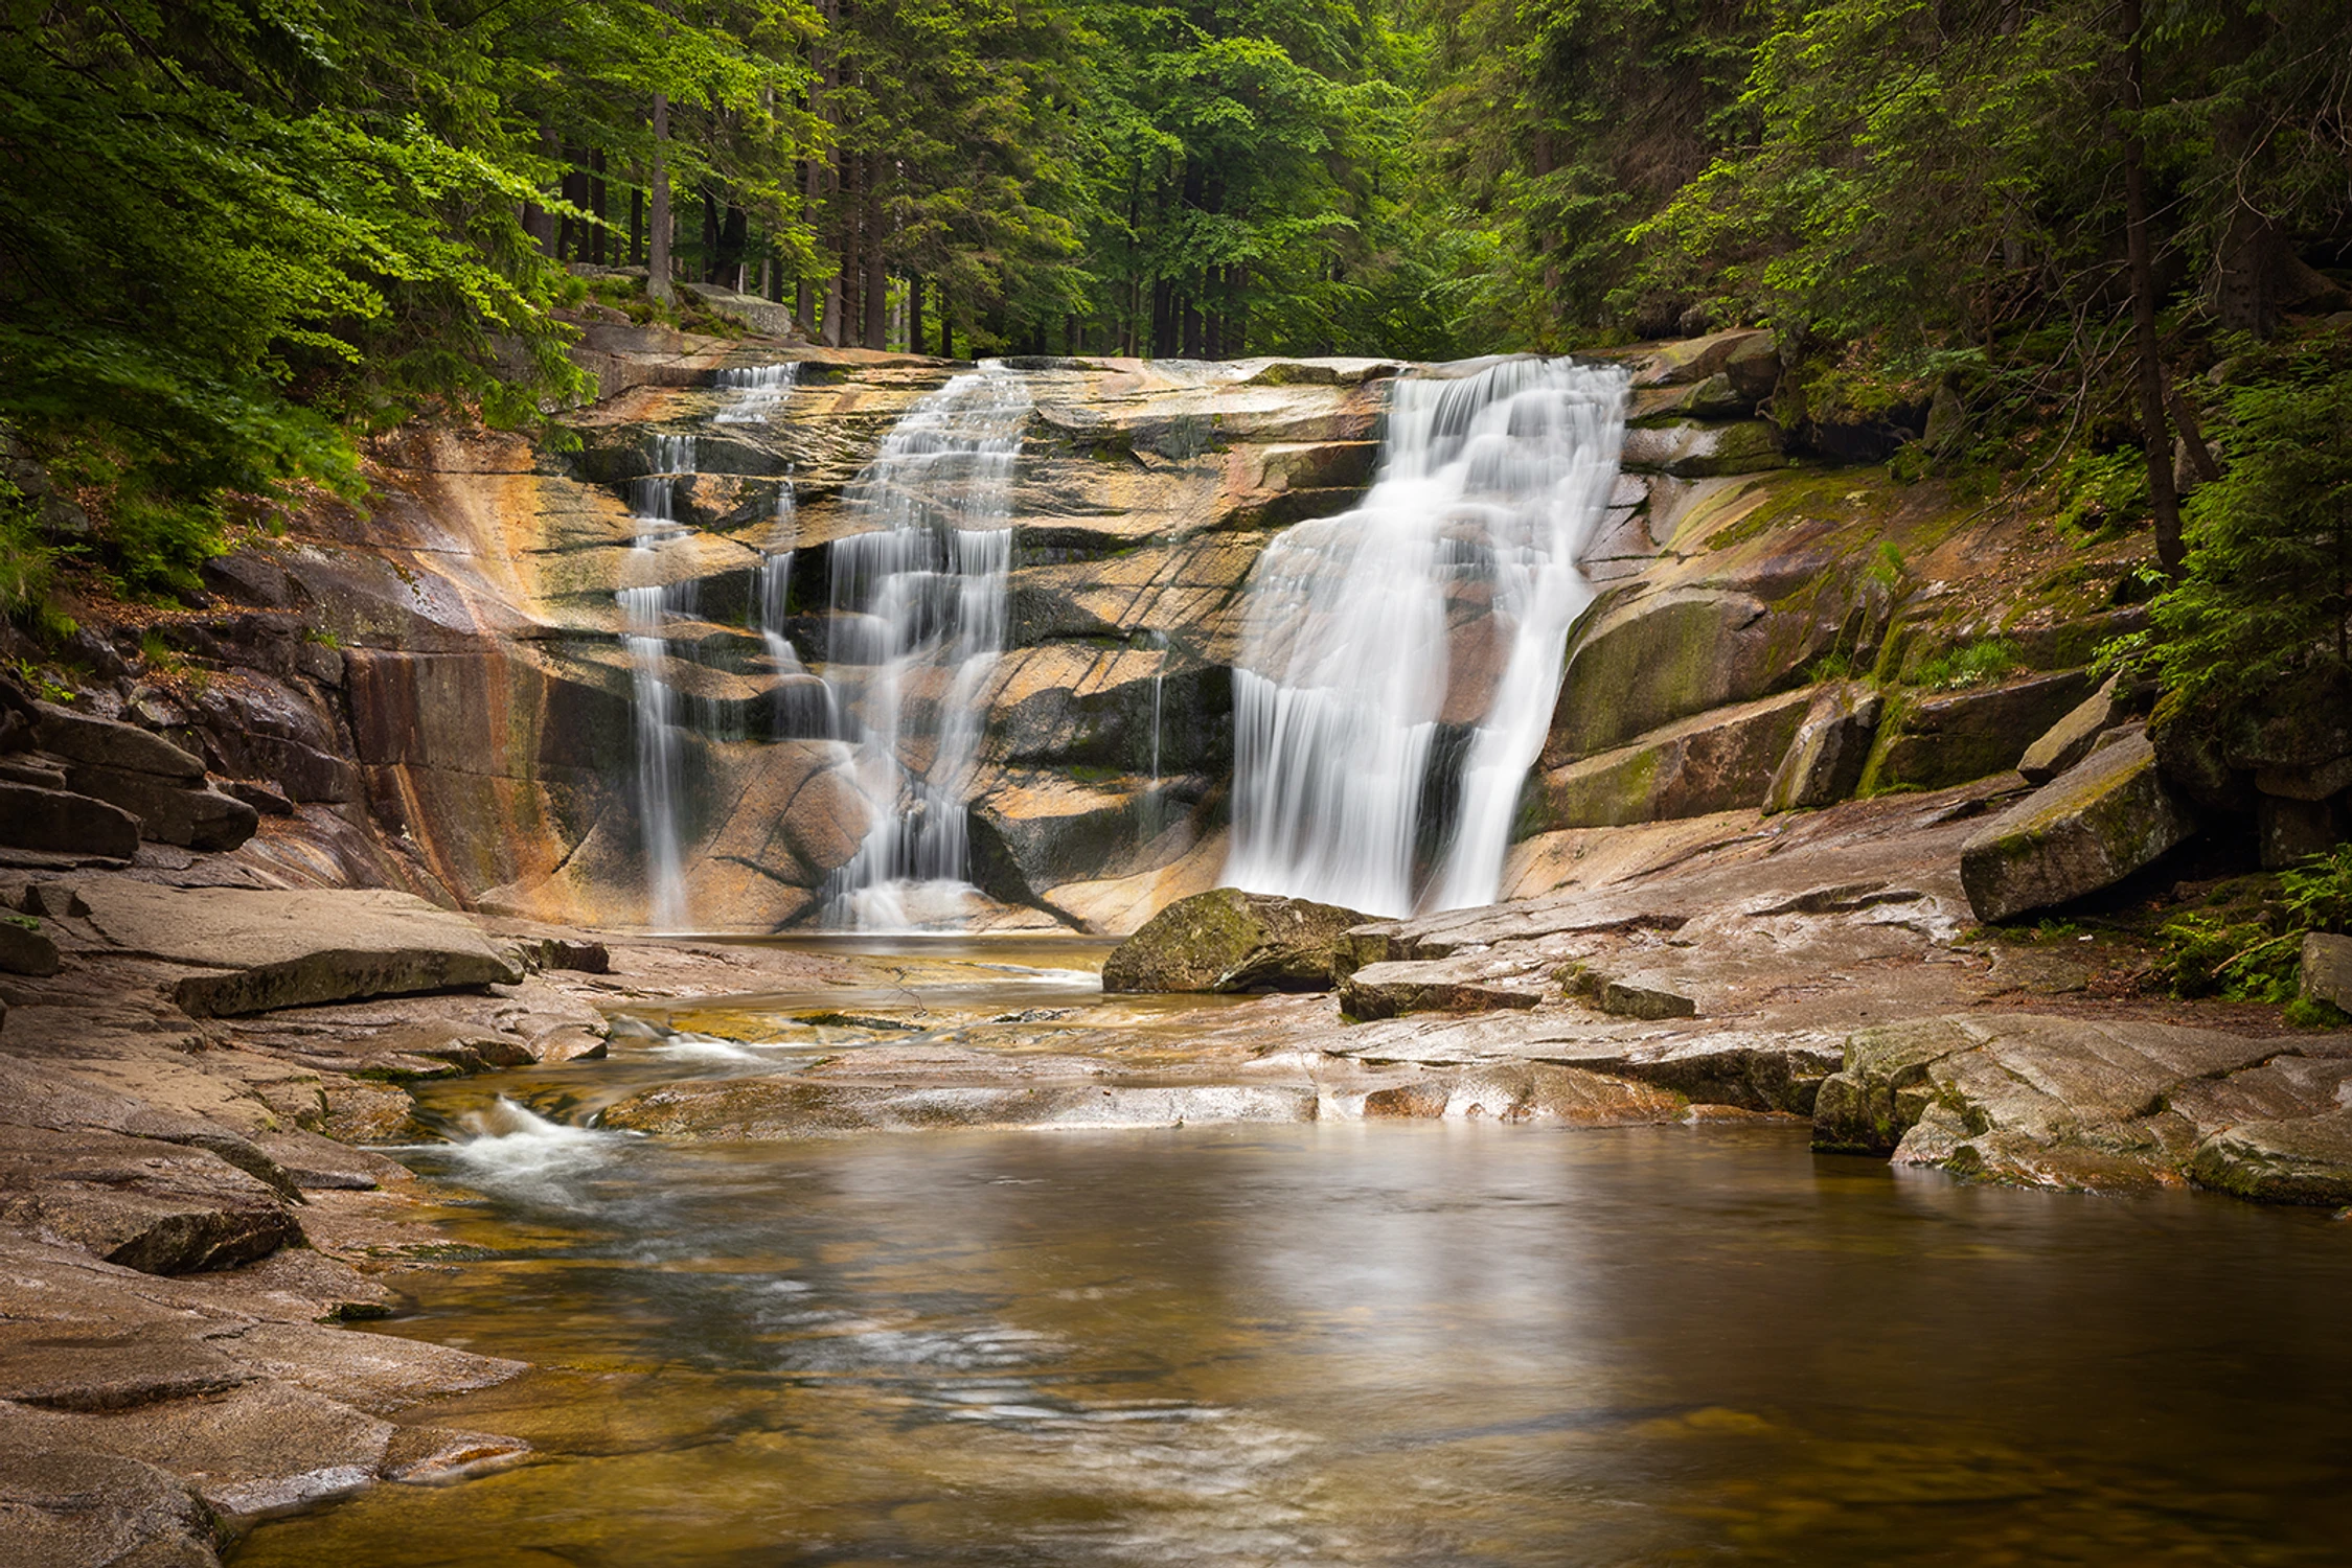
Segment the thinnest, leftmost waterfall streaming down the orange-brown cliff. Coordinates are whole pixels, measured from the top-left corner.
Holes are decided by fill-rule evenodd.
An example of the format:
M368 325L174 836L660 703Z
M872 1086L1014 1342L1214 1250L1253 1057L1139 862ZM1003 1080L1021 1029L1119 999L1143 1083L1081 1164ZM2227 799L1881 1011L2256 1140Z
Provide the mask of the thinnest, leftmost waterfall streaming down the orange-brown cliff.
M637 578L659 578L666 548L689 536L677 522L677 480L694 473L694 437L656 435L652 465L654 473L637 480L633 498L630 576ZM670 616L694 609L694 581L640 583L623 588L616 599L637 717L637 825L644 835L647 914L654 926L675 931L689 919L687 856L677 825L684 755L677 741L677 691L670 684L666 625Z

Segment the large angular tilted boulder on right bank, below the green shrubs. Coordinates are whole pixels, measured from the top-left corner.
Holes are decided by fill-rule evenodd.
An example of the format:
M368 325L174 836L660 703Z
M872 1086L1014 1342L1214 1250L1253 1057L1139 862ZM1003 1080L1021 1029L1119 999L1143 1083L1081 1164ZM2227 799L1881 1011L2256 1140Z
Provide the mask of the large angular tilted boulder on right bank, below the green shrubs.
M1978 919L2011 919L2112 886L2194 830L2157 776L2154 745L2133 733L1971 835L1959 882Z

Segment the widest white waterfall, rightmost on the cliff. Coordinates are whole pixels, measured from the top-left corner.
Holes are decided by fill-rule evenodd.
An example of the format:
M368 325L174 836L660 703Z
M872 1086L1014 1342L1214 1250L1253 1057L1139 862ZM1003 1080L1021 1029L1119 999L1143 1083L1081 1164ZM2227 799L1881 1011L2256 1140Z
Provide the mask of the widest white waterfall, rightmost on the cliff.
M1364 503L1251 571L1225 882L1367 914L1496 898L1623 437L1618 369L1395 383Z

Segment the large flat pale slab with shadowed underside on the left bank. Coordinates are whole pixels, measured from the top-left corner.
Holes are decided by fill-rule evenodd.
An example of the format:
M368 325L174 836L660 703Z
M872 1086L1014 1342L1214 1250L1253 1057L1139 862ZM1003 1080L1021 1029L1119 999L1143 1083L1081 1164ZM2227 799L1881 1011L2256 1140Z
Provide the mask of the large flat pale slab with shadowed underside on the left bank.
M522 980L515 954L463 914L388 891L165 889L94 879L89 924L129 952L223 973L181 980L195 1016Z

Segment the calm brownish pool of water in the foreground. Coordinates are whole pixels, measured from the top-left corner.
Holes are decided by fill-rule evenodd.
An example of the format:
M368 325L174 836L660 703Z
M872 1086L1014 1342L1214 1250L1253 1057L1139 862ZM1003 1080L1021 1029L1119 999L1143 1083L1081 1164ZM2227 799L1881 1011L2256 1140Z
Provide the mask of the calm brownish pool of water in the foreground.
M2340 1563L2352 1225L1802 1128L1310 1124L412 1159L534 1462L238 1568Z

